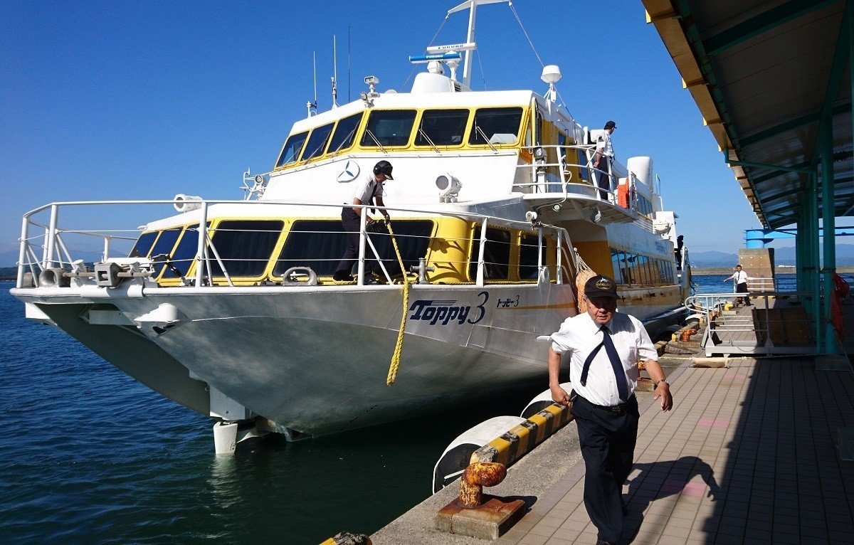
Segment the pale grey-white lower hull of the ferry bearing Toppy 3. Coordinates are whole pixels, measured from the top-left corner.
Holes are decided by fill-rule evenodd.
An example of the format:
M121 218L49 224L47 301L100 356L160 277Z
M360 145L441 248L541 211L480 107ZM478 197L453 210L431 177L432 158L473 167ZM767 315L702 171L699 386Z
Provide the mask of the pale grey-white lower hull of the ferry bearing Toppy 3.
M201 391L208 385L254 415L314 437L545 384L547 343L536 337L576 314L570 284L413 285L401 367L387 386L403 311L400 286L112 292L109 304L141 333L132 349L128 327L79 318L88 306L103 306L97 299L69 303L73 297L38 297L39 289L14 291L38 301L63 331L187 407L207 414ZM175 318L151 319L164 305ZM646 305L637 310L651 312ZM169 379L153 382L140 371L144 366L128 365L130 358L169 369L149 373Z

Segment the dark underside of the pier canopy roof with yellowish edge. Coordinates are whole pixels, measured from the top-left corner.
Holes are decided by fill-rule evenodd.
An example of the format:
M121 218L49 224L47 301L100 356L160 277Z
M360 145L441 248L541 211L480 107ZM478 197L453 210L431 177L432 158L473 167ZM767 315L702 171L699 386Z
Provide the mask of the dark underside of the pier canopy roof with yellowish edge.
M852 2L643 0L765 228L797 220L822 123L833 127L834 215L854 215Z

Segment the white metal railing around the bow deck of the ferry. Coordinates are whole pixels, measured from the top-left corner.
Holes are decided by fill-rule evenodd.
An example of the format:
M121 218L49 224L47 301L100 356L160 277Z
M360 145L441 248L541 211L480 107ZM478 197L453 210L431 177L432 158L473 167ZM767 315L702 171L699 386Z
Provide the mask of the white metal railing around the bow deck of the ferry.
M247 255L247 252L244 251L241 253L241 251L236 251L232 247L235 244L235 238L231 239L232 246L220 245L218 241L222 240L222 238L218 238L218 234L220 237L225 237L227 239L228 237L224 233L229 233L229 231L255 233L260 237L263 237L265 234L271 235L271 232L275 232L276 235L273 239L275 241L278 240L278 234L284 230L284 223L282 229L278 231L268 229L230 229L222 225L223 221L225 221L225 219L223 219L220 220L219 225L212 230L212 224L208 217L210 207L216 204L239 204L241 206L264 205L265 207L278 204L288 207L296 207L295 209L297 210L301 207L314 208L312 216L306 216L301 219L325 220L325 218L315 217L317 215L317 208L330 208L330 215L334 217L339 214L341 209L340 204L283 201L198 200L191 202L194 208L192 208L193 212L190 217L184 221L178 220L171 226L165 225L165 222L161 222L164 226L156 228L151 227L148 230L144 227L124 229L88 229L85 228L85 226L67 226L66 224L67 217L72 217L74 220L85 223L91 223L93 218L108 221L108 218L115 217L110 216L105 212L91 214L92 207L130 207L139 205L147 207L162 207L164 205L175 204L186 206L187 202L182 200L52 202L44 205L43 207L35 208L27 212L24 214L21 224L16 286L18 288L25 287L25 276L28 276L26 273L30 273L30 275L32 275L32 280L27 279L26 285L34 285L38 287L41 274L48 269L54 269L53 274L55 276L56 274L59 274L61 276L72 278L94 278L96 276L95 273L88 271L85 265L86 263L105 262L111 259L115 260L115 258L124 258L120 261L122 266L126 268L129 267L132 259L135 258L139 258L139 261L149 262L151 267L147 272L131 270L121 273L126 277L145 276L155 280L161 276L161 272L165 269L167 272L162 274L162 278L172 279L173 284L179 282L180 285L191 285L196 287L216 284L234 286L235 278L240 278L240 282L245 284L247 282L247 278L260 278L262 276L260 273L254 275L254 277L252 275L242 274L248 270L248 266L255 271L259 271L261 269L266 271L267 265L270 263L271 259L275 261L273 264L273 270L278 276L281 276L282 274L280 269L289 264L294 267L304 268L300 266L305 262L310 261L320 265L326 265L328 268L328 264L330 262L337 262L341 260L340 255L329 255L329 250L327 250L325 254L310 256L300 255L298 258L293 260L286 259L284 256L284 243L279 244L279 246L272 243L272 246L270 247L270 255ZM465 255L468 259L464 259L464 261L436 261L434 253L434 257L431 258L431 264L434 266L439 265L442 267L448 267L449 270L455 270L464 277L469 274L467 271L471 271L471 273L475 273L476 271L476 274L472 274L471 276L475 277L473 280L474 284L477 285L484 285L484 283L488 281L500 281L502 278L507 278L509 276L507 273L505 273L504 277L499 276L496 278L494 274L490 275L489 271L490 269L495 270L494 267L498 267L499 270L503 267L504 270L509 271L509 268L512 265L510 262L496 262L496 258L493 257L493 252L488 251L488 246L504 243L501 241L490 240L488 238L488 229L491 227L515 228L519 231L528 231L530 234L537 236L535 266L533 263L523 265L520 257L518 262L520 271L518 277L520 278L520 281L527 281L522 279L521 271L523 268L526 268L526 272L529 273L529 276L525 278L529 278L533 282L540 282L544 279L549 280L549 275L544 274L544 270L551 267L547 266L547 261L549 261L547 260L547 251L552 251L556 254L554 255L554 263L558 264L558 267L555 267L553 270L553 274L556 277L554 278L554 281L558 284L563 284L566 278L571 278L568 276L570 271L566 266L566 264L572 260L570 237L564 229L556 226L549 226L540 222L532 225L528 221L506 220L490 216L488 214L475 214L462 211L449 212L434 211L424 208L377 207L371 205L353 206L353 208L361 208L362 210L378 210L383 212L387 211L391 214L392 218L400 220L398 225L405 225L405 220L423 219L424 215L448 216L476 222L478 224L475 227L476 231L474 238L476 240L472 242L477 243L477 257L475 255ZM67 210L69 209L77 211L77 214L68 213ZM294 215L293 210L294 208L288 210L289 216ZM44 219L44 215L48 215L46 220ZM375 273L379 273L380 276L384 277L385 281L389 284L392 284L395 280L395 276L401 273L419 273L419 278L424 279L424 269L426 267L423 259L419 260L418 256L409 255L405 258L405 261L410 264L410 270L396 270L400 266L397 256L390 251L391 240L389 231L387 231L382 224L374 224L371 226L371 222L367 220L368 214L360 214L360 217L359 248L358 256L356 258L358 264L356 284L366 284L366 267L372 268L373 264L376 264L379 268ZM61 218L63 221L61 221ZM263 217L258 217L256 214L250 213L240 217L239 220L266 220L268 218L269 214L265 214ZM230 211L230 214L226 219L234 220L233 212ZM130 214L121 214L120 220L124 222L132 221L133 216ZM137 222L138 221L135 221L131 225L135 225ZM70 221L68 221L68 223L70 223ZM391 227L394 230L394 219L391 222ZM134 246L134 241L137 241L139 236L144 232L154 231L157 231L157 233L160 234L165 231L177 232L173 233L173 238L164 239L166 242L161 248L158 248L160 239L157 238L160 234L152 235L150 246L142 250L142 255L132 255L128 258L133 250L132 246ZM312 234L317 234L319 232L326 235L337 235L339 237L346 237L348 234L347 231L343 230L343 226L333 228L330 231L313 231L310 228L300 230L295 228L295 226L290 226L288 237L290 237L291 233L301 233L303 235L311 236ZM556 239L556 245L548 245L544 241L544 235L549 235ZM70 240L72 238L73 242L77 243L77 245L72 243ZM395 241L401 245L405 244L407 240L410 240L411 242L411 240L415 238L427 239L427 242L421 245L424 248L429 245L430 240L432 239L432 237L430 237L430 233L426 235L418 235L407 232L395 232ZM93 239L101 239L101 243L93 242ZM451 240L445 237L443 240L446 240L451 244L457 244L465 247L464 243L471 241L471 237L460 238L459 240ZM226 240L226 242L228 241ZM286 242L287 241L285 241L285 243ZM512 241L508 244L512 244ZM521 246L532 246L532 244L523 244L521 239L519 239L519 244ZM278 256L274 254L277 248L281 248L278 251L283 252ZM530 249L526 251L529 252L528 255L530 261L530 255L532 252ZM566 252L570 252L570 255L564 256ZM512 253L508 251L506 255L512 255ZM423 258L424 255L422 254L420 257ZM564 260L564 257L567 257L569 261ZM260 266L260 263L259 267L251 267L254 262L260 261L264 262L262 267ZM507 261L512 260L508 257ZM474 268L475 262L477 262L476 269ZM188 275L190 274L191 267L194 264L196 265L195 270L193 271L194 274L190 277ZM536 268L534 269L534 267ZM527 269L529 269L529 271ZM536 278L534 278L535 272ZM301 274L304 275L304 273L305 272L303 271ZM220 280L215 280L215 278L220 278ZM222 279L224 279L224 282L221 281ZM283 284L286 283L284 277L281 278L281 280ZM259 282L265 283L266 280L262 278Z

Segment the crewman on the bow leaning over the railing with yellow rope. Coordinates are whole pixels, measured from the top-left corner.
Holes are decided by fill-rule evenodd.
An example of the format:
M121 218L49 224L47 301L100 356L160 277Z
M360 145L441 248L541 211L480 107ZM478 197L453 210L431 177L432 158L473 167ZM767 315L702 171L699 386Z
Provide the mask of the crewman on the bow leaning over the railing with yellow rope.
M387 179L394 179L391 176L391 163L389 161L379 161L373 167L373 173L368 174L366 179L361 182L356 182L356 186L354 187L353 192L353 201L350 204L354 204L357 207L362 204L376 204L377 206L384 207L385 203L383 202L383 182ZM335 274L332 276L335 280L338 281L346 281L352 282L353 276L350 274L350 269L353 268L353 264L356 261L356 258L359 257L359 231L361 226L361 214L365 214L367 212L367 208L353 208L351 206L345 206L341 210L341 222L344 225L344 231L347 231L348 236L348 245L347 249L344 250L344 255L342 255L341 261L338 263L338 268L335 271ZM385 216L385 220L389 220L389 212L385 209L381 209L383 216ZM371 223L371 217L366 217L366 222ZM365 264L365 273L366 277L369 278L366 280L366 283L373 284L375 281L372 280L372 277L369 273L371 273L370 264L366 262Z

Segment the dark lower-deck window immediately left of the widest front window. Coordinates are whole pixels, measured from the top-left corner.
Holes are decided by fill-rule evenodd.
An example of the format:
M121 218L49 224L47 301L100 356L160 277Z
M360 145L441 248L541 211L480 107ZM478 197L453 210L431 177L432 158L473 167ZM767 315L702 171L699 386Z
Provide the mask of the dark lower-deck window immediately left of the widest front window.
M225 220L211 240L231 277L253 278L264 273L283 227L282 220ZM219 262L210 257L213 276L224 276Z

